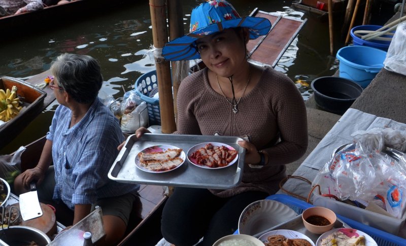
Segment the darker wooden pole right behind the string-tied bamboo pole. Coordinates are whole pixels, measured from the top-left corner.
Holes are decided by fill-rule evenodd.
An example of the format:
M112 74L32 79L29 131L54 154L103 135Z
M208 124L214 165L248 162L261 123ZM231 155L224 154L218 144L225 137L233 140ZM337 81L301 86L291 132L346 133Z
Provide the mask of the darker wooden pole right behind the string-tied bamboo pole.
M183 36L183 11L181 0L168 0L168 22L169 22L169 39L173 40L177 37ZM183 61L181 61L183 62ZM176 104L178 98L178 90L181 84L180 72L181 66L179 62L171 62L172 65L172 85L174 87L174 113L175 121L178 119L178 107Z

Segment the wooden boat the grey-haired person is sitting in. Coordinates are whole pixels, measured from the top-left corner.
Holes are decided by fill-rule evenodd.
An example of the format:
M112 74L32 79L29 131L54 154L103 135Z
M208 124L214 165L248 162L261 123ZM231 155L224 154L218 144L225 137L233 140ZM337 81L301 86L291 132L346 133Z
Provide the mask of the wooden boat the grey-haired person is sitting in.
M22 171L36 166L45 142L44 136L25 146L26 149L21 154ZM162 208L167 198L163 194L163 187L141 185L138 193L139 199L134 202L126 235L117 245L154 245L162 238L159 227L155 230L151 230L151 227L159 224ZM56 219L61 225L72 224L73 212L71 210L58 206L58 204L52 204L52 206L55 207Z

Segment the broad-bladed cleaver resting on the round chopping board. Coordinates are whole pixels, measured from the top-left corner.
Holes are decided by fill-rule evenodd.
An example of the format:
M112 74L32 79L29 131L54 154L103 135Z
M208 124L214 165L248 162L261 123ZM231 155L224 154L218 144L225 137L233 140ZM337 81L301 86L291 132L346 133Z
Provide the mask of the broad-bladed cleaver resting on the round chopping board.
M42 216L35 183L31 182L29 188L30 191L20 194L19 197L20 213L24 221Z

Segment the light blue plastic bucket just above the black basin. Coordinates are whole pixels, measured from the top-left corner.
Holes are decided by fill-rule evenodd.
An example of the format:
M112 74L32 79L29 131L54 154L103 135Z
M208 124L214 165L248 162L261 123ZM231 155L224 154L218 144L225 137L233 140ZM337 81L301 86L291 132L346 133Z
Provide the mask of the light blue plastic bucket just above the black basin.
M336 55L340 61L340 77L366 88L384 66L386 52L368 46L347 46Z

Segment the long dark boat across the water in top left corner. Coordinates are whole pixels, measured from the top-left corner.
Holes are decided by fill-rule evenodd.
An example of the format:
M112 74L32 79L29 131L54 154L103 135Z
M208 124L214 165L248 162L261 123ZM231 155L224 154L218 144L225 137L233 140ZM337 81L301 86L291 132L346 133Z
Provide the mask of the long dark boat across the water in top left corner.
M11 38L49 30L130 4L140 3L132 0L74 0L65 4L44 6L44 9L38 11L1 17L0 32L5 33L1 40L7 42Z

